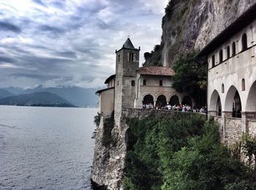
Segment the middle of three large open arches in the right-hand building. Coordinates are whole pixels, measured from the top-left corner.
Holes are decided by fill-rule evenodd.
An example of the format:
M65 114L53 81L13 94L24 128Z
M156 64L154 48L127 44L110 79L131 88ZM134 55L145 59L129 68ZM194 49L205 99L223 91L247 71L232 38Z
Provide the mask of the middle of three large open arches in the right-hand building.
M225 111L233 113L233 117L241 117L241 98L236 87L231 86L225 98Z

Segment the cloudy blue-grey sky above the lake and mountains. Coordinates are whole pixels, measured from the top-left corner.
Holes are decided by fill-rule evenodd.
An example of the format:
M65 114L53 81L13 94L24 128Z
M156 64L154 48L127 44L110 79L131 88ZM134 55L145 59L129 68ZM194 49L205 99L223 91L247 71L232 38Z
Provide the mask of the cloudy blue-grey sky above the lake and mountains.
M0 0L1 87L102 87L129 36L160 43L168 0Z

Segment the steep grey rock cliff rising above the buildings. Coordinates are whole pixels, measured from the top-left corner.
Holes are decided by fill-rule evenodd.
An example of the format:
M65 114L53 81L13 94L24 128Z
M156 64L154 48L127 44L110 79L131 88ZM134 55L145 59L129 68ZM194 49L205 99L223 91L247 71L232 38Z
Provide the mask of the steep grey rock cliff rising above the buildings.
M162 65L172 66L184 52L201 50L255 3L255 0L170 0L162 18Z

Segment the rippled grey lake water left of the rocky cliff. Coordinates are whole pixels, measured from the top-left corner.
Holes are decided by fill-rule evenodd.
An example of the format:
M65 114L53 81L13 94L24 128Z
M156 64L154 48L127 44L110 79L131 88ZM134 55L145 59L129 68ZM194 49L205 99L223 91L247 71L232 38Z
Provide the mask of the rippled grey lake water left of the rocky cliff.
M91 189L96 114L0 106L0 189Z

